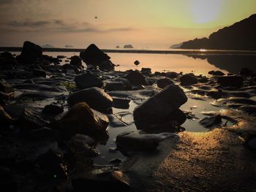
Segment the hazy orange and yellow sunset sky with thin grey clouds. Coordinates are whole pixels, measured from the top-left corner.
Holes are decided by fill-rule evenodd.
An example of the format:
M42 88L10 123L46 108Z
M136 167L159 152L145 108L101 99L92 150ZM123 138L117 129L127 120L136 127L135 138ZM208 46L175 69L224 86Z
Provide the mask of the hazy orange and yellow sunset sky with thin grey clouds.
M0 0L0 46L167 49L255 13L256 0Z

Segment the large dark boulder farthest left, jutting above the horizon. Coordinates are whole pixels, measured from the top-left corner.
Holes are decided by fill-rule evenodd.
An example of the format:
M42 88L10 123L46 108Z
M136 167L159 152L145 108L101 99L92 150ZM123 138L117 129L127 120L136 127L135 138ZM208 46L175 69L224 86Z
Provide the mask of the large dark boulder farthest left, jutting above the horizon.
M18 61L23 64L32 64L42 61L42 47L32 42L24 42Z

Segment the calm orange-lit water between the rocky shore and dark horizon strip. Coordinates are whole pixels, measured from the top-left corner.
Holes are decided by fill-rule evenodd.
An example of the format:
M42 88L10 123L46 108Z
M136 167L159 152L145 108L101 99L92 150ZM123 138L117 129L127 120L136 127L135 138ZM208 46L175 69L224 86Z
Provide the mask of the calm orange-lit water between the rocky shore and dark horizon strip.
M65 55L67 58L79 53L45 52L46 55ZM207 74L211 70L238 73L241 68L247 67L256 72L255 55L229 55L229 54L148 54L148 53L108 53L113 64L119 65L117 71L129 69L140 70L143 67L151 68L152 72L194 72L195 74ZM68 63L63 59L61 64ZM140 61L135 66L134 61Z

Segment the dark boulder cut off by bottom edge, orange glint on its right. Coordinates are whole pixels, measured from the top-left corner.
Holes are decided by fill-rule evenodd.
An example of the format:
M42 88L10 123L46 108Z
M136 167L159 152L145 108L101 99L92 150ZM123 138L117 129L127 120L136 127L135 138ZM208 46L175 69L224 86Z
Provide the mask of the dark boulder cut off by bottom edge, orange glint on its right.
M93 170L77 176L71 182L73 191L124 191L130 190L129 178L120 171Z

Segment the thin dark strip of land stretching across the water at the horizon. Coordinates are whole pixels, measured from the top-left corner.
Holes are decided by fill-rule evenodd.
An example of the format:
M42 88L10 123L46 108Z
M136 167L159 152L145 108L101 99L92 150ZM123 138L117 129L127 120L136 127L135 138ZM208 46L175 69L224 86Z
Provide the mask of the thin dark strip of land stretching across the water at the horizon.
M9 51L9 52L20 52L22 47L0 47L0 51ZM42 47L43 52L81 52L85 49L78 48L55 48L55 47ZM102 49L105 53L148 53L148 54L220 54L220 55L256 55L256 51L253 50L135 50L135 49Z

